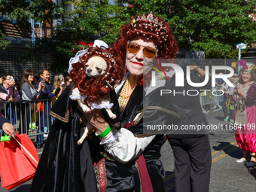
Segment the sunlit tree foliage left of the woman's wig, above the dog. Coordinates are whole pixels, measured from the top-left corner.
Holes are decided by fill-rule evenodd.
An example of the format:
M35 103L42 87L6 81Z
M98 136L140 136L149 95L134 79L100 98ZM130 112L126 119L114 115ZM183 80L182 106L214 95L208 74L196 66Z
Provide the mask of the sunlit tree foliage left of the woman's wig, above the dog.
M120 27L130 17L125 6L110 5L105 0L79 1L74 5L70 13L72 21L66 23L66 27L75 28L87 40L94 35L108 44L113 43Z

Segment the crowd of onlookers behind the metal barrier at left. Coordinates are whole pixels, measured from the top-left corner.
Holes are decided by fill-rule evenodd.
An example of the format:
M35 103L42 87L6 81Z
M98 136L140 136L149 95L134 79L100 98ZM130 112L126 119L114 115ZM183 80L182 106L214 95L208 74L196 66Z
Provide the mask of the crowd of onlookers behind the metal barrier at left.
M64 77L62 74L54 75L52 81L47 69L41 69L38 75L26 69L20 84L11 74L2 74L0 76L1 114L5 115L13 125L17 123L19 117L19 133L28 133L29 129L37 127L38 129L35 130L41 133L37 137L37 145L41 148L44 137L47 137L47 134L43 133L50 130L50 108L71 82L69 75Z

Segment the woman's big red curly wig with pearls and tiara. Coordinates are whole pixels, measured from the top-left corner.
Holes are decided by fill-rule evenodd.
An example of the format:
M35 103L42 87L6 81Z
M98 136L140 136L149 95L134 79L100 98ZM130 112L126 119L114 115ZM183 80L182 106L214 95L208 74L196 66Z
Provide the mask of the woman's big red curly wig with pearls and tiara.
M157 47L157 59L175 59L178 44L172 35L171 27L166 21L153 14L140 14L131 17L121 29L120 34L113 44L114 50L120 50L123 64L126 62L128 41L142 39L153 42ZM151 79L151 78L147 78ZM143 78L139 81L142 85Z

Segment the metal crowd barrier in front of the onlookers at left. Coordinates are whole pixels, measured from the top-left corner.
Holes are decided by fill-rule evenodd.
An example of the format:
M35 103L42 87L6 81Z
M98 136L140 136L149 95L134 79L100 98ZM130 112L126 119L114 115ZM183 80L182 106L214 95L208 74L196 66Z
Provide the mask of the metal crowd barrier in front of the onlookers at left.
M53 123L53 117L49 112L54 101L54 99L1 101L1 113L10 120L20 134L26 133L28 136L47 134Z

